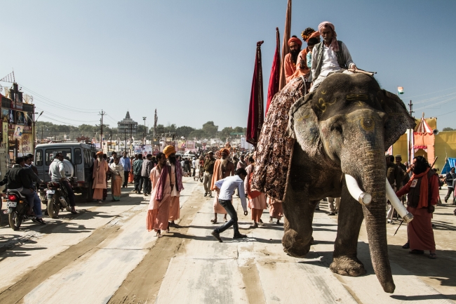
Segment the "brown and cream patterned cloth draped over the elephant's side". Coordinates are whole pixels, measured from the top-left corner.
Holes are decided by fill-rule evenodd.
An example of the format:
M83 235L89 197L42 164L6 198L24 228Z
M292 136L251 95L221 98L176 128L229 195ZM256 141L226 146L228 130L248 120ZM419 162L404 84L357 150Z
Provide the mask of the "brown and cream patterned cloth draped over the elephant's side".
M288 112L305 94L302 77L292 79L271 101L257 144L252 188L276 201L285 197L288 167L295 140L287 135Z

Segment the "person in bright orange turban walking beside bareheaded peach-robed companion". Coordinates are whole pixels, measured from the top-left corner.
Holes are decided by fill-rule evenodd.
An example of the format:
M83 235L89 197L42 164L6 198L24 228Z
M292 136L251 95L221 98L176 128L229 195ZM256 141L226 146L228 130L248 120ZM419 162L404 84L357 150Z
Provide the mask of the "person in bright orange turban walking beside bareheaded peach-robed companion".
M163 150L166 158L168 159L168 166L170 166L170 184L171 184L171 200L169 203L169 225L175 225L175 220L180 218L180 191L184 189L182 184L182 166L176 159L176 150L174 146L168 145Z

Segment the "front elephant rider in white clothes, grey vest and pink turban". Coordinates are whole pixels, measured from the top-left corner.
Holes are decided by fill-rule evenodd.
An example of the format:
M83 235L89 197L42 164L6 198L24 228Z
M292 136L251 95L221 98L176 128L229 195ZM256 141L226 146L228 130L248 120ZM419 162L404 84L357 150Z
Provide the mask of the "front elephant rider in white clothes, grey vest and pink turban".
M323 21L318 25L323 42L316 44L312 52L311 76L314 81L310 92L315 91L330 74L351 74L347 69L356 69L347 46L337 40L334 29L333 23L328 21Z

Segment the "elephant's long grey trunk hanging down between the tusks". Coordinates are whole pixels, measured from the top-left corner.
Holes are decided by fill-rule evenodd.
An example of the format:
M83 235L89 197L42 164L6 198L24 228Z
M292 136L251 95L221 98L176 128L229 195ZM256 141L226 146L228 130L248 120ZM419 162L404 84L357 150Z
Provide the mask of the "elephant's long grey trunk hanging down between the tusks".
M396 286L389 265L387 227L385 224L385 161L382 151L373 152L373 154L371 154L373 158L367 157L370 159L366 159L367 162L361 169L363 189L372 196L372 202L363 205L363 213L368 232L370 258L375 274L383 290L387 293L393 293Z

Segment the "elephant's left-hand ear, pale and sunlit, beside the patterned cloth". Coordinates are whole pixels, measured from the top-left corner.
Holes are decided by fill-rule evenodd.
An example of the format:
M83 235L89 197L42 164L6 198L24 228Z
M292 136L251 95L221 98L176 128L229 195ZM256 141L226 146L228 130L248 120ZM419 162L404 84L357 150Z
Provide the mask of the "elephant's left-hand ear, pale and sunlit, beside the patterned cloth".
M311 105L313 97L312 92L298 99L290 108L288 115L288 136L295 138L302 149L309 153L316 149L320 140L318 119Z

